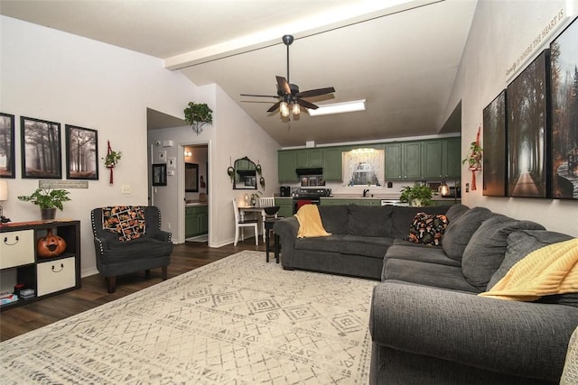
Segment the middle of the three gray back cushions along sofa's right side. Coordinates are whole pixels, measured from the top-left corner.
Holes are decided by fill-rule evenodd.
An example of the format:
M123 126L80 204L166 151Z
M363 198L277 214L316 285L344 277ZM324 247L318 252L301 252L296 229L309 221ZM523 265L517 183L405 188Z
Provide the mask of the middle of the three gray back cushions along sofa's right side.
M486 289L492 275L504 261L508 235L517 230L544 230L544 226L499 214L480 225L471 236L461 259L461 271L468 282L476 288Z

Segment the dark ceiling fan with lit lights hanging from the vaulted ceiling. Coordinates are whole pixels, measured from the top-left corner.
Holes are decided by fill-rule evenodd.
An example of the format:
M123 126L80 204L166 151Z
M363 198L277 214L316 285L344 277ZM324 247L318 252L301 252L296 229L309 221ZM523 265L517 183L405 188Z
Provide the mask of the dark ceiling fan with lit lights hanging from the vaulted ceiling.
M301 112L301 106L312 110L319 108L319 106L313 105L311 102L303 100L303 98L322 96L335 92L335 88L333 87L310 89L308 91L300 92L299 86L289 83L289 46L293 41L294 37L292 35L284 35L283 42L287 47L287 78L280 76L275 77L277 79L277 95L241 94L241 96L275 97L275 99L278 99L278 102L276 102L275 105L272 105L267 112L271 113L279 108L281 116L284 117L289 116L289 111L291 111L293 115L299 115Z

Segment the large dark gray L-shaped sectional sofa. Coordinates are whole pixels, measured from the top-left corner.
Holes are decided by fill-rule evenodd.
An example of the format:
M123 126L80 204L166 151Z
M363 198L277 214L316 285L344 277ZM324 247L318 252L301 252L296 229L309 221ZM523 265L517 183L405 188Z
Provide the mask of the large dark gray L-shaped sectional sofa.
M424 246L404 239L419 210L320 206L333 235L312 239L296 239L296 218L285 218L274 227L284 269L382 280L369 325L372 384L558 383L578 326L578 294L536 302L477 294L528 252L572 237L454 205L421 209L449 220L442 244Z

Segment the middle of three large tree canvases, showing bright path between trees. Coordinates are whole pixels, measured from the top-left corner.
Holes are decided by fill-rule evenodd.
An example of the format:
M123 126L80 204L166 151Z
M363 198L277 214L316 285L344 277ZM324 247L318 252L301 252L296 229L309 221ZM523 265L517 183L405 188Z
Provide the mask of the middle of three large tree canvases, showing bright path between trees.
M545 50L508 85L509 197L546 197L548 193L548 67Z

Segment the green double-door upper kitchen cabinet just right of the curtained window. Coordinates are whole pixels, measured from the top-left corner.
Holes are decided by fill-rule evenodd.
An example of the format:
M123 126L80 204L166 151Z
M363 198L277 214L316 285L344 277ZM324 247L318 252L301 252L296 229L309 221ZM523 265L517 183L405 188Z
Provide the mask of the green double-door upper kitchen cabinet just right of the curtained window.
M386 179L422 178L422 142L386 144Z

